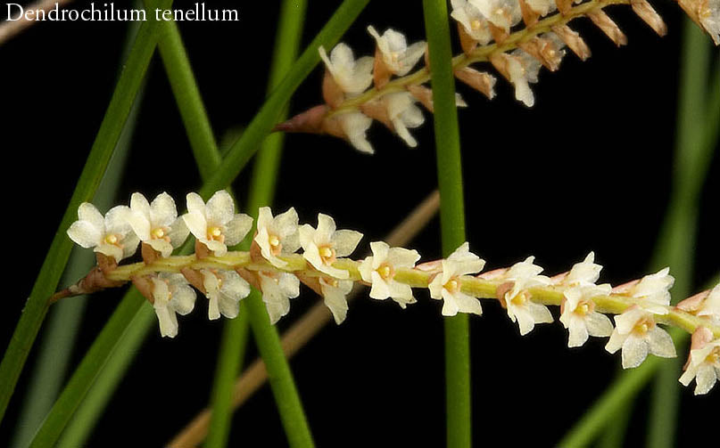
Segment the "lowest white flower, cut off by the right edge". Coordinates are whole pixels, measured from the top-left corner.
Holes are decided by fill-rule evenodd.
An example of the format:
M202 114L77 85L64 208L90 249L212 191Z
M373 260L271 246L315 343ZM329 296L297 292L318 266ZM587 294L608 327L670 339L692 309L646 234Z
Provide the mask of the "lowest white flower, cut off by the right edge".
M700 327L692 334L692 346L685 371L679 381L688 386L695 379L695 395L707 394L720 379L720 339Z

